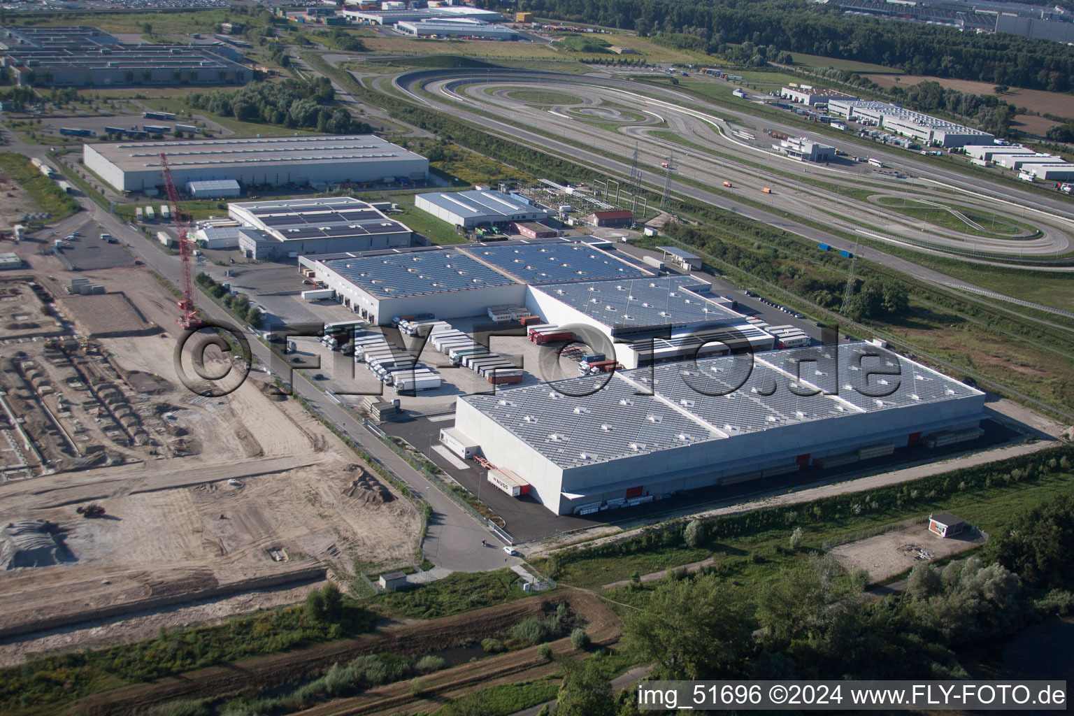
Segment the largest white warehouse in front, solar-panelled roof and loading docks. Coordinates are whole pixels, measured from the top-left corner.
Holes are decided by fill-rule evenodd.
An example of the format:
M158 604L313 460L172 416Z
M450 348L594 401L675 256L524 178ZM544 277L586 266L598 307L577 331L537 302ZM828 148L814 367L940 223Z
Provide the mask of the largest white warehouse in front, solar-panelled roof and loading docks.
M985 394L870 344L466 395L455 432L557 514L977 437ZM752 369L751 369L752 368ZM799 372L802 375L799 376Z

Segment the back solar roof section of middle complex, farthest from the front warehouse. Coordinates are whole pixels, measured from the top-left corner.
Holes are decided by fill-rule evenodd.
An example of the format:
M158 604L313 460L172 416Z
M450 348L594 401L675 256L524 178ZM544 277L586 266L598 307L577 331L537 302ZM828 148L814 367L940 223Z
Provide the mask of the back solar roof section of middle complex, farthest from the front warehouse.
M525 283L596 281L652 276L643 268L584 244L565 242L468 246L475 258Z

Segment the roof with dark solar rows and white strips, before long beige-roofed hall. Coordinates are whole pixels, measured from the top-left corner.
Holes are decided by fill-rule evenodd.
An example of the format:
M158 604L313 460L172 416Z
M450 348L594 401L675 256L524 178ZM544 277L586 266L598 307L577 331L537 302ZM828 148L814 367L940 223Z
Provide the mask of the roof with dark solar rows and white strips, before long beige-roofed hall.
M228 204L236 221L280 242L409 233L410 229L358 199L284 199Z

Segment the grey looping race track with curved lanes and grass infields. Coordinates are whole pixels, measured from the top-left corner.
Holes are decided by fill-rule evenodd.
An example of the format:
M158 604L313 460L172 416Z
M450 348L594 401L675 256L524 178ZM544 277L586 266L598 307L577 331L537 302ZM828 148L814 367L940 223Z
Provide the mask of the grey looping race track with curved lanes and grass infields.
M1050 259L1074 250L1074 217L1060 202L1042 202L1026 192L960 175L956 182L948 172L908 160L904 155L883 158L902 178L844 158L830 165L798 162L771 151L775 140L759 129L742 126L743 121L761 120L723 109L701 112L684 106L701 103L669 89L510 70L421 71L402 75L394 84L416 101L480 122L489 131L516 141L562 152L612 176L629 175L629 161L637 148L642 182L657 190L666 179L662 163L671 160L676 170L672 193L737 210L838 248L853 247L845 239L760 209L757 204L811 223L974 262L1004 263L1002 257ZM729 125L721 115L735 123ZM766 127L780 129L764 121ZM790 131L787 128L784 133ZM673 136L678 137L674 142L670 141ZM725 187L725 181L731 187ZM772 193L763 193L766 187ZM751 203L738 201L740 196ZM869 252L860 248L859 253ZM881 262L887 264L897 261L875 253L868 258L883 257L886 260ZM1047 268L1074 271L1059 265ZM910 273L925 278L919 268Z

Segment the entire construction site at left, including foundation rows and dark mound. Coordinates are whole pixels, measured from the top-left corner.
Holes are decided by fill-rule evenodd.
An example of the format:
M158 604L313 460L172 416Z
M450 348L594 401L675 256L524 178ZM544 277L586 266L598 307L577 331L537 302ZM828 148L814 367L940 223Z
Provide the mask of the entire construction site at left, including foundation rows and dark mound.
M264 374L222 398L183 386L175 299L151 274L79 277L103 294L69 294L58 273L0 284L0 660L102 643L78 629L90 619L114 623L105 643L125 641L142 633L125 615L201 600L176 618L203 620L259 589L280 591L256 605L292 603L286 587L326 566L412 561L415 507ZM129 310L84 316L82 302L108 296ZM107 337L76 339L90 320Z

